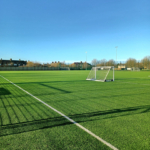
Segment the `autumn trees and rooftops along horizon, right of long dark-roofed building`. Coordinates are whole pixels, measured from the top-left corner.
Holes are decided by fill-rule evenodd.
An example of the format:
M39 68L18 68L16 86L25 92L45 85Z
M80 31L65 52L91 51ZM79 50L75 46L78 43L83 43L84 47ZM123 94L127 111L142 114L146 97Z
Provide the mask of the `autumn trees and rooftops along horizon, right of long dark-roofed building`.
M115 60L110 59L93 59L91 61L91 64L86 63L86 62L79 62L79 63L72 63L72 64L66 64L64 62L52 62L52 63L40 63L40 62L33 62L33 61L28 61L27 62L27 67L70 67L72 69L91 69L92 66L115 66L118 68L119 65L125 65L126 68L132 68L132 67L138 67L140 69L150 69L150 56L146 56L143 59L136 60L134 58L128 58L124 63L116 63Z

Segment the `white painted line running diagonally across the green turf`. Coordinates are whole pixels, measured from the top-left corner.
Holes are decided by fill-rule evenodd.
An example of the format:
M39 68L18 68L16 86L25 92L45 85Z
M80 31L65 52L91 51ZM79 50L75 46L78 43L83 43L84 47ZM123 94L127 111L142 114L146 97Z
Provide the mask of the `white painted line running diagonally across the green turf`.
M34 97L36 100L40 101L41 103L43 103L44 105L46 105L47 107L51 108L52 110L54 110L55 112L57 112L58 114L60 114L61 116L63 116L64 118L66 118L67 120L69 120L70 122L72 122L73 124L75 124L76 126L78 126L79 128L81 128L82 130L84 130L85 132L89 133L90 135L92 135L93 137L95 137L97 140L101 141L102 143L104 143L105 145L107 145L108 147L110 147L113 150L118 150L116 147L114 147L113 145L111 145L110 143L106 142L105 140L103 140L102 138L100 138L99 136L95 135L93 132L91 132L90 130L86 129L85 127L83 127L82 125L80 125L79 123L75 122L74 120L72 120L71 118L67 117L66 115L64 115L63 113L61 113L60 111L56 110L55 108L51 107L50 105L46 104L45 102L43 102L42 100L40 100L39 98L37 98L36 96L30 94L29 92L27 92L26 90L22 89L21 87L19 87L18 85L14 84L13 82L9 81L8 79L6 79L5 77L3 77L2 75L0 75L2 78L4 78L5 80L7 80L8 82L12 83L14 86L16 86L17 88L21 89L22 91L24 91L25 93L29 94L30 96Z

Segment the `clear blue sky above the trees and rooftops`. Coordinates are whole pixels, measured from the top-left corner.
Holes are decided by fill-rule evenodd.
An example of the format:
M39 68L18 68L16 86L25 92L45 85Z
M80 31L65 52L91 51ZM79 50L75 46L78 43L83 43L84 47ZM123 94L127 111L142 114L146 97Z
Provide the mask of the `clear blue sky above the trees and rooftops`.
M150 55L150 0L1 0L0 58L39 62Z

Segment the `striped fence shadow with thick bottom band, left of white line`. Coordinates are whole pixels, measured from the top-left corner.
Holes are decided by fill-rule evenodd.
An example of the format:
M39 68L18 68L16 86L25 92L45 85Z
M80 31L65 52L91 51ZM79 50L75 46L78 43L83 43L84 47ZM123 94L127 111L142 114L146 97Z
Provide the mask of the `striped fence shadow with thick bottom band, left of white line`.
M30 97L0 100L0 137L72 124L62 116L50 118L51 113L45 111L44 105L30 100Z

